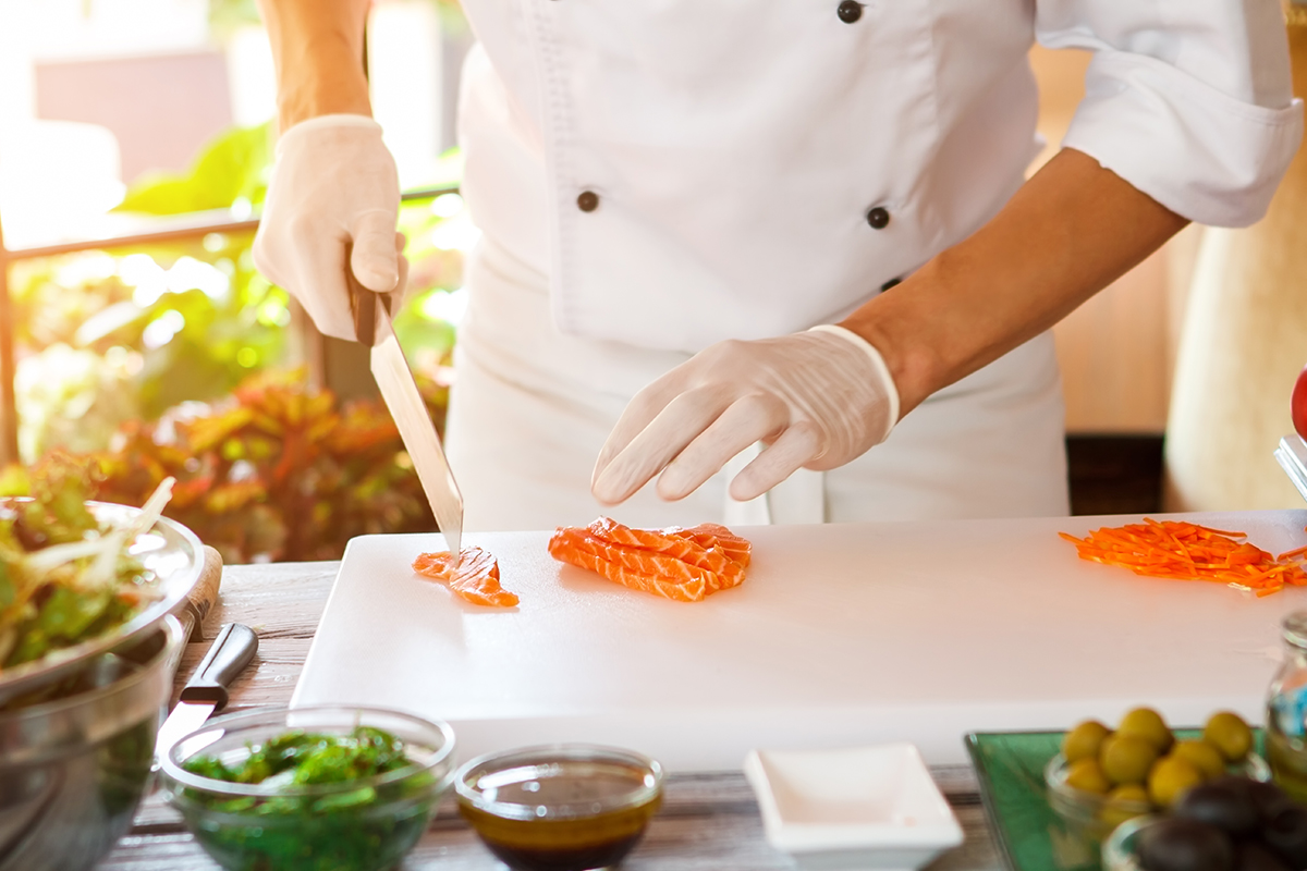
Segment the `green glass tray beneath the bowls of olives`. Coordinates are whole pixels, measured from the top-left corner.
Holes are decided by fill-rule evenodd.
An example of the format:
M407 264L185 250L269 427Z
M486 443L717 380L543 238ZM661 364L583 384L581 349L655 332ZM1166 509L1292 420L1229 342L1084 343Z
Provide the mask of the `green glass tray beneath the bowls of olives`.
M980 784L999 853L1012 871L1099 871L1095 841L1073 831L1044 798L1044 767L1061 748L1061 731L968 733L967 752ZM1199 738L1176 729L1176 738ZM1261 753L1261 730L1253 730Z

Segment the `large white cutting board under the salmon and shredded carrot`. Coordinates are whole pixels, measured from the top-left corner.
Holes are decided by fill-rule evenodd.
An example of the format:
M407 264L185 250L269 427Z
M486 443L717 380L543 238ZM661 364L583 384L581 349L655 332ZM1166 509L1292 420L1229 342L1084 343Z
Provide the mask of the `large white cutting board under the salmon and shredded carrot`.
M1179 516L1172 516L1179 517ZM1188 515L1272 552L1307 511ZM349 543L293 705L384 705L448 721L459 756L562 740L669 769L735 769L752 747L908 740L965 759L971 730L1064 729L1150 704L1172 725L1261 722L1280 619L1257 599L1081 560L1077 535L1137 517L757 526L742 586L698 603L554 562L549 533L467 534L512 610L416 576L430 535Z

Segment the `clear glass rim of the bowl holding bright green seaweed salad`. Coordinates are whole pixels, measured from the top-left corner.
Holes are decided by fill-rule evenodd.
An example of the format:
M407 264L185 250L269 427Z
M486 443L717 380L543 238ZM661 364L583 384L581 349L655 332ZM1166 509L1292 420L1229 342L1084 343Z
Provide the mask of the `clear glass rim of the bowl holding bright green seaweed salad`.
M222 781L213 777L204 777L203 774L195 774L192 772L182 768L182 763L178 761L176 756L179 751L193 738L203 735L208 731L220 731L221 735L214 738L221 740L229 734L239 735L242 731L257 726L272 726L276 718L281 718L284 731L299 731L298 727L286 726L285 718L288 714L312 714L312 713L336 713L336 714L382 714L387 718L396 718L408 721L410 725L420 727L425 731L438 733L440 735L440 747L435 751L435 756L426 763L405 765L404 768L396 768L392 772L384 772L382 774L372 774L371 777L363 777L359 780L345 781L342 784L311 784L308 786L280 786L280 787L264 787L261 784L233 784L231 781ZM354 723L356 726L363 723ZM312 731L314 726L306 726L303 731ZM335 729L333 726L319 726L318 729ZM191 752L187 759L203 753L213 742L197 747ZM408 744L409 742L404 742ZM222 714L207 721L203 726L196 729L187 735L178 739L173 747L169 748L166 753L159 757L159 773L165 776L166 781L171 781L186 789L200 790L213 795L225 795L230 798L327 798L329 795L340 795L344 793L353 793L356 790L387 786L391 784L397 784L405 781L414 774L430 773L439 768L442 764L447 763L454 756L455 750L455 735L454 729L443 720L430 720L426 717L418 717L406 710L395 710L393 708L380 708L374 705L303 705L297 708L286 708L284 705L268 705L261 708L251 708L248 710L240 710L237 713ZM437 780L437 787L442 791L448 786L450 780L452 780L452 770L447 772L443 777ZM217 812L217 811L216 811ZM239 815L238 815L239 816Z

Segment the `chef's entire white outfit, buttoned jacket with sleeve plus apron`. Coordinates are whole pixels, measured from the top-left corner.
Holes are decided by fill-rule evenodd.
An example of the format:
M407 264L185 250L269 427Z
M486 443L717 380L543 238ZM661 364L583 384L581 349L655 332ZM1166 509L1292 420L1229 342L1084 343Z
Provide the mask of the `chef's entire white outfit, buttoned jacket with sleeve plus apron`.
M1095 51L1064 144L1185 217L1256 219L1300 135L1276 0L464 9L464 193L486 239L450 409L468 529L588 522L639 388L719 340L839 320L988 221L1034 153L1036 34ZM749 517L1065 513L1059 389L1040 336ZM724 520L723 479L612 513Z

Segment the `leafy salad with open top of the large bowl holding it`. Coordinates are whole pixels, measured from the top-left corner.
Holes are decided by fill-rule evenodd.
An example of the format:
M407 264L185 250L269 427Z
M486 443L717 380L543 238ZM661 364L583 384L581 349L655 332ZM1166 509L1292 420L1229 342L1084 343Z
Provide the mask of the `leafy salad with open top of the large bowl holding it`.
M203 546L161 516L171 487L141 508L97 503L68 469L0 499L0 705L142 636L190 594Z

